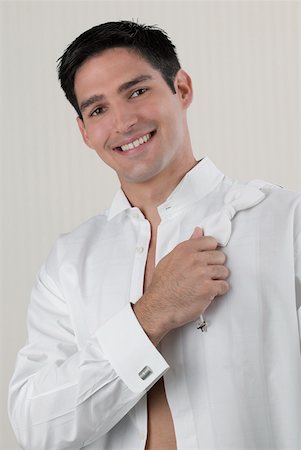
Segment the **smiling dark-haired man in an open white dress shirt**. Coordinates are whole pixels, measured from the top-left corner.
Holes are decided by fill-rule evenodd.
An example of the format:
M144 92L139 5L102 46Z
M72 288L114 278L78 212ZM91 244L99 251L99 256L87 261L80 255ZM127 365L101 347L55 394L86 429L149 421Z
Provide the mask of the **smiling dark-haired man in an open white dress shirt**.
M159 29L94 27L59 77L121 189L39 274L10 386L20 445L300 449L300 195L195 160L191 79Z

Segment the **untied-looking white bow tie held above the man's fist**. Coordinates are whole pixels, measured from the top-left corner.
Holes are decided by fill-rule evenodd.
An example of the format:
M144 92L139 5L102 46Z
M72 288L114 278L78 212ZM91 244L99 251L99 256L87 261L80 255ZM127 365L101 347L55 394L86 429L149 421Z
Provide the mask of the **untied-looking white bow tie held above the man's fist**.
M231 237L232 219L238 211L258 205L265 194L252 182L246 185L235 183L224 198L222 209L206 217L200 227L204 235L213 236L219 245L225 247Z

